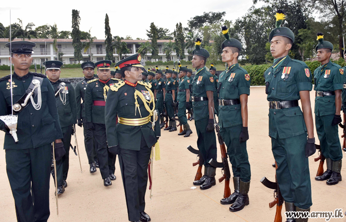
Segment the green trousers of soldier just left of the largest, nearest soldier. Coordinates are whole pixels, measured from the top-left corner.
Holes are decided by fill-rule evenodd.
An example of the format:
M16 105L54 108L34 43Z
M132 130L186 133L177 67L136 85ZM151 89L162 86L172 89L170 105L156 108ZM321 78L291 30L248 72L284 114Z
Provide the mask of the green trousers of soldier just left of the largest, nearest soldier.
M249 163L246 142L239 143L239 136L243 125L220 128L220 135L227 147L229 161L232 164L233 177L240 177L243 182L249 182L251 179L251 170Z

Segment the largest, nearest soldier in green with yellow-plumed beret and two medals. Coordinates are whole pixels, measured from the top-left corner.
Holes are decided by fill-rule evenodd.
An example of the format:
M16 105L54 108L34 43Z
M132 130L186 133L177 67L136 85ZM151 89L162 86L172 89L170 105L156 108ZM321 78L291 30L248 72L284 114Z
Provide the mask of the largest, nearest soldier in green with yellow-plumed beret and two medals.
M309 92L312 76L305 63L288 56L294 34L287 27L280 27L286 15L278 10L275 17L276 28L269 34L274 64L264 72L269 137L286 211L303 212L309 211L312 205L307 157L316 151ZM298 100L302 102L303 112ZM296 219L296 222L306 221Z

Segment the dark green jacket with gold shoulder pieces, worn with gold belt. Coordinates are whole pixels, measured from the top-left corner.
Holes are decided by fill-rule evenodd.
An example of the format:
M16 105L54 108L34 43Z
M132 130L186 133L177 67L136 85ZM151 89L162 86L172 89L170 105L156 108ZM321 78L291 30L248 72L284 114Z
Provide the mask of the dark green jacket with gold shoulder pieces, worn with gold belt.
M151 84L138 81L135 87L120 81L120 84L115 84L108 92L105 119L106 119L106 132L108 147L120 146L122 149L140 150L141 135L144 136L145 142L149 148L154 146L157 142L156 137L161 136L160 132L160 116L155 124L155 132L152 129L152 117L150 122L141 126L129 126L124 124L116 124L117 116L122 118L142 118L149 115L145 109L143 101L137 97L140 113L135 110L135 89L141 92L144 97L148 97L148 89L150 90ZM147 89L148 88L148 89ZM150 104L150 109L153 104ZM140 115L141 114L141 115Z

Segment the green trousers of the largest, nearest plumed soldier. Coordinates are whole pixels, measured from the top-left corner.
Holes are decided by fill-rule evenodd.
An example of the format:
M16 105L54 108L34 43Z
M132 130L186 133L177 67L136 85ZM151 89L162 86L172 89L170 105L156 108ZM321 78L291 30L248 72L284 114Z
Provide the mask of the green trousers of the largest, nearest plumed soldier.
M312 205L309 161L305 157L307 134L286 139L271 138L271 149L278 168L276 178L286 202L307 209Z

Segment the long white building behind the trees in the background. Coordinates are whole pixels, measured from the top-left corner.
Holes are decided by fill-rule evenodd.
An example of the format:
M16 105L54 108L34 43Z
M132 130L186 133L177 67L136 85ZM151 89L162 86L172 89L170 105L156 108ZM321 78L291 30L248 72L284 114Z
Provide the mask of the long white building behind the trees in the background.
M22 39L16 38L13 41L21 41ZM30 40L25 39L27 41L32 41L36 43L36 47L34 47L34 54L33 59L34 62L36 60L37 64L41 64L41 62L48 61L48 60L56 60L56 54L54 47L53 47L53 40L50 38L32 38ZM9 66L9 50L5 46L5 44L8 42L8 38L0 38L0 65L7 65ZM82 40L84 41L84 40ZM95 39L93 43L91 44L90 48L87 49L86 52L82 50L82 55L84 58L84 61L89 61L90 55L91 55L91 61L97 62L104 60L106 57L106 44L104 43L104 39ZM122 55L122 59L124 57L129 57L133 54L135 54L138 51L138 48L140 47L139 43L146 42L151 40L133 40L133 39L123 39L123 42L126 42L128 44L128 48L130 50L130 54ZM165 47L164 43L169 42L170 40L158 40L158 46L159 46L159 56L160 59L158 61L166 62L166 54L163 52L163 48ZM174 40L171 40L174 42ZM62 58L64 64L77 64L82 63L83 61L75 61L74 60L74 48L72 46L72 39L57 39L57 47L58 52L62 52ZM90 54L91 52L91 54ZM113 50L113 63L118 62L119 55L116 52L116 49ZM146 55L142 55L143 60L147 58L147 61L156 62L155 59L151 59L151 53L148 53ZM187 61L188 53L187 49L185 49L185 61ZM177 61L176 53L172 52L172 56L170 58L171 61ZM170 61L169 60L169 61Z

